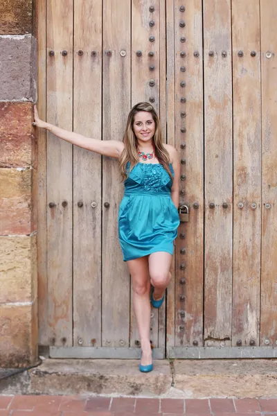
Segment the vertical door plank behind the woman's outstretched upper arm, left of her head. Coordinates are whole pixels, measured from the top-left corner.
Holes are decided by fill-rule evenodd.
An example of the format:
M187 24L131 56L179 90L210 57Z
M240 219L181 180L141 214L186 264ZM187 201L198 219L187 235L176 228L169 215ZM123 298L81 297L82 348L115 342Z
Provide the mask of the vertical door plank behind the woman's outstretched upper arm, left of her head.
M103 0L103 139L122 140L130 105L128 0ZM111 51L109 55L108 51ZM120 51L126 55L121 56ZM129 274L118 242L123 184L118 161L102 161L102 346L129 346ZM109 208L104 203L109 202Z

